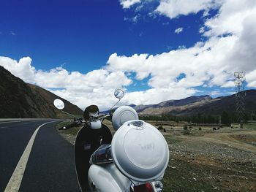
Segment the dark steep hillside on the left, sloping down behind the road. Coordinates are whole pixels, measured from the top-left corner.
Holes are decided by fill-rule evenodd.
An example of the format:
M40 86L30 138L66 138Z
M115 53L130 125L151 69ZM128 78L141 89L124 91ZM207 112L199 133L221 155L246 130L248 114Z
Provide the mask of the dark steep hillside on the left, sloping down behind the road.
M64 101L65 111L83 115L83 111L69 101L23 82L0 66L0 118L63 118L63 113L53 106L54 99Z

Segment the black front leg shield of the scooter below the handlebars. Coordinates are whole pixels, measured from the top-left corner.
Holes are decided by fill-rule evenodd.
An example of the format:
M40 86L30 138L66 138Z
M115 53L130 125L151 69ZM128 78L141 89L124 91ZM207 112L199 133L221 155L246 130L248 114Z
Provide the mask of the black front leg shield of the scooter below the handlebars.
M102 124L99 129L91 129L88 125L78 131L75 139L75 170L81 191L89 190L88 172L91 154L100 145L111 144L112 134L108 126Z

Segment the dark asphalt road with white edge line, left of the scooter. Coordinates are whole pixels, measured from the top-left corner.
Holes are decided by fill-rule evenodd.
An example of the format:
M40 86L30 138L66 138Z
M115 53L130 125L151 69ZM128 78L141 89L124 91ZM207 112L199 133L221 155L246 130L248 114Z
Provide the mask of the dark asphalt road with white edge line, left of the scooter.
M0 121L0 191L80 191L56 120Z

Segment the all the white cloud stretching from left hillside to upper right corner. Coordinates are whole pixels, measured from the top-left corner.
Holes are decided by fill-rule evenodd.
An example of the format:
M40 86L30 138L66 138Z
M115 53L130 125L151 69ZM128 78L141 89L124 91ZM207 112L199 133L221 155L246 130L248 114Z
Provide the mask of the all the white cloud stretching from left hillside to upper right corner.
M129 1L129 6L135 4L132 2L135 1ZM50 91L57 88L53 93L82 108L98 104L101 110L116 101L113 98L115 88L125 89L132 84L131 74L135 74L136 81L146 80L150 88L130 93L128 90L122 104L155 104L181 99L199 92L197 88L201 86L232 88L233 72L238 71L245 71L247 86L256 88L255 0L162 0L157 11L172 19L216 7L219 7L218 14L206 19L200 28L206 40L192 47L181 46L157 55L113 53L102 69L87 74L68 72L62 67L45 72L31 66L29 57L20 61L0 57L0 65L26 82Z

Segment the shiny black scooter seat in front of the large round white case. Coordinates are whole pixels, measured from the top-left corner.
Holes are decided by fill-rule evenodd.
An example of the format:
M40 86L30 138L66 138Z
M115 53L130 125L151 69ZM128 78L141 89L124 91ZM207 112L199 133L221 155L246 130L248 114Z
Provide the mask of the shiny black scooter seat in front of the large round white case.
M101 145L90 158L90 164L108 164L112 163L111 145Z

